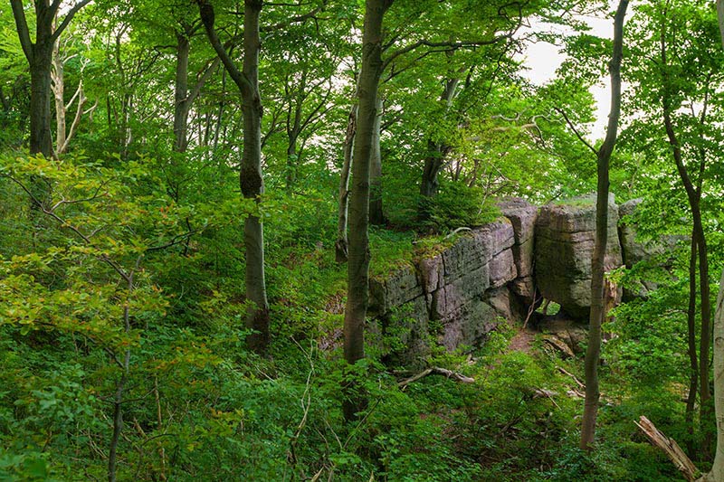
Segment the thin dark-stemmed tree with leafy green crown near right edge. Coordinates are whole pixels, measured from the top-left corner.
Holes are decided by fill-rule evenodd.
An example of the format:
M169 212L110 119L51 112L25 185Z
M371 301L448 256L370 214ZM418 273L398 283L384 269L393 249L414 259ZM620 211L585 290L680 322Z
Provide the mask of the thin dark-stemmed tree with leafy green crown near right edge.
M629 109L639 113L639 119L632 122L627 136L636 146L648 146L651 157L668 159L665 165L658 166L668 171L671 183L683 188L681 209L691 220L687 228L691 232L687 307L690 379L686 407L691 437L687 448L691 457L706 458L710 454L713 425L710 247L706 233L711 229L707 226L711 222L708 218L717 209L708 195L716 189L716 183L711 181L717 169L711 160L719 155L724 142L718 126L722 111L717 93L724 79L724 57L717 46L717 25L709 3L650 2L638 10L630 45L633 55L643 61L629 67L638 95L628 103ZM682 31L688 32L689 38L681 38ZM695 430L697 406L700 430ZM697 431L702 435L698 448Z

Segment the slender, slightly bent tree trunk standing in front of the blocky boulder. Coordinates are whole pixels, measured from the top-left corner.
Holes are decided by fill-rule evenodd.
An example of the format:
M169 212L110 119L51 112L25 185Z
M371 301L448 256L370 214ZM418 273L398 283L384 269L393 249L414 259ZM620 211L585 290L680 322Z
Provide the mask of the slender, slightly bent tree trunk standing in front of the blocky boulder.
M621 114L621 61L624 56L624 17L628 0L620 0L614 18L614 52L608 71L611 75L611 111L604 144L598 149L598 188L595 203L595 248L591 260L591 314L586 348L586 401L581 428L581 449L593 449L595 419L598 413L598 362L601 355L601 324L604 318L605 251L608 236L608 165L614 152Z

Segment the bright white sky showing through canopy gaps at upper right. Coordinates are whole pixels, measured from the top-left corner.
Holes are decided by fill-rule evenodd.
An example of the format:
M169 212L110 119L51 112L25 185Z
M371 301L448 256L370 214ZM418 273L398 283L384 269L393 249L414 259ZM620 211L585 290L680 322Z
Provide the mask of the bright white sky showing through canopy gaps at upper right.
M615 8L615 5L613 5ZM629 14L630 8L629 8ZM628 16L628 15L627 15ZM614 36L614 19L598 18L592 16L583 17L591 27L592 35L605 38L613 38ZM535 25L534 25L535 27ZM562 32L562 29L560 30ZM537 85L544 84L548 80L552 80L556 76L556 69L565 59L565 55L558 52L560 47L551 43L533 43L529 45L528 50L524 53L525 64L529 67L529 71L525 71L523 75ZM608 62L608 59L602 59ZM625 89L625 85L624 85ZM608 109L611 106L611 81L608 76L601 79L601 82L591 88L596 103L595 123L591 128L591 137L589 140L595 141L605 136L605 126L608 121Z

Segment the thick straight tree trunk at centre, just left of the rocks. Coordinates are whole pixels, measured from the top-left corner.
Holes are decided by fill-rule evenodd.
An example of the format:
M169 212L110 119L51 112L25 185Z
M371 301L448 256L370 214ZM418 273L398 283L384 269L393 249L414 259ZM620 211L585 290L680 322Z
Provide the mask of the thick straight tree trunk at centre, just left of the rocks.
M391 0L366 0L362 33L362 67L357 99L359 118L352 165L352 193L349 202L349 260L347 305L345 307L344 354L348 364L365 357L365 318L369 282L369 171L377 117L377 88L383 70L382 21ZM359 386L344 387L345 419L351 421L367 405Z

